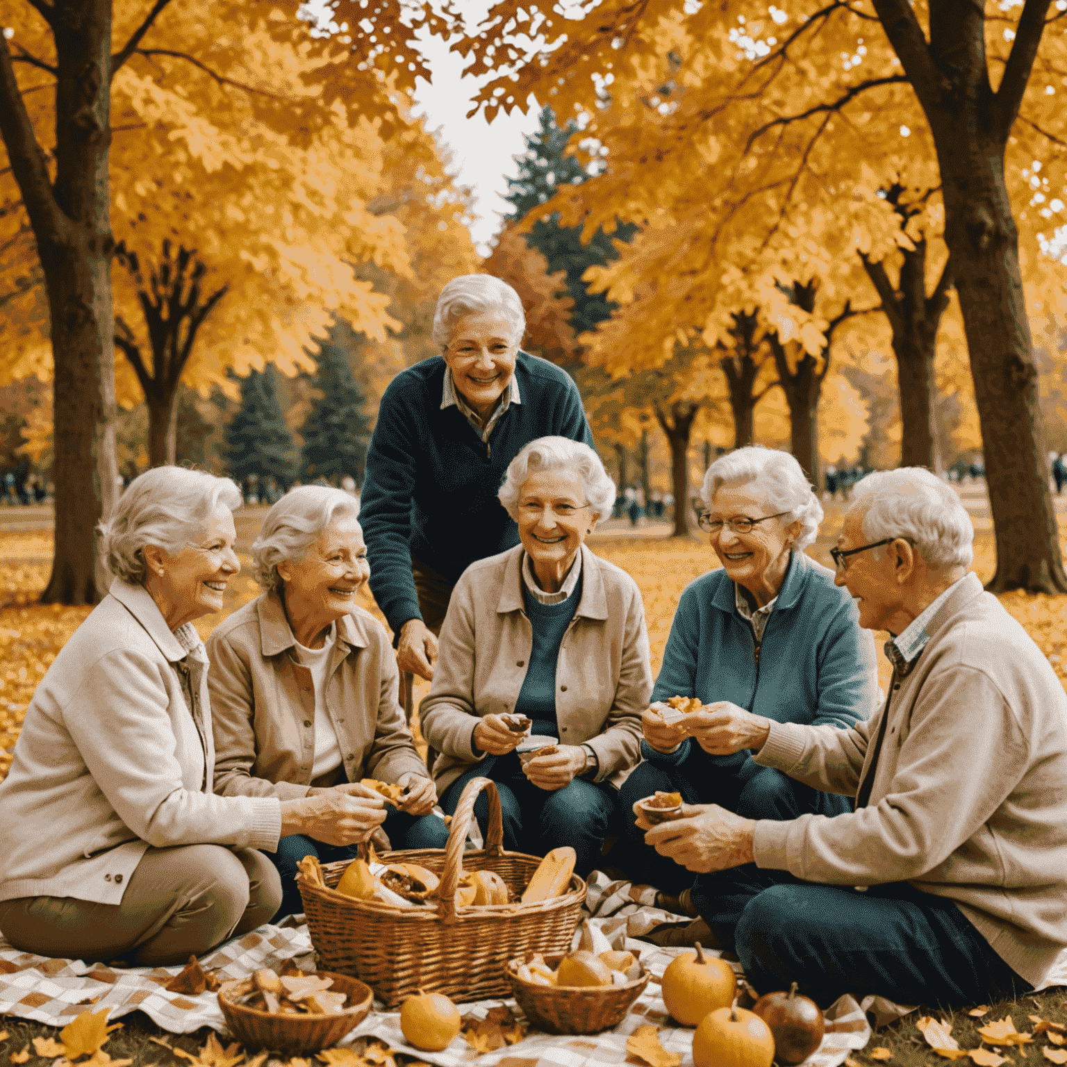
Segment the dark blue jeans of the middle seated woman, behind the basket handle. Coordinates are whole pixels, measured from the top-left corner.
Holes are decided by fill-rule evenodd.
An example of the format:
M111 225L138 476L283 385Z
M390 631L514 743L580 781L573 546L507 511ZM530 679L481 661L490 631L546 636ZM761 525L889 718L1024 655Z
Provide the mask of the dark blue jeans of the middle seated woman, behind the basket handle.
M616 792L607 784L575 778L554 793L538 789L522 771L519 757L489 757L457 778L445 791L441 807L452 814L472 778L491 778L500 797L504 847L544 856L560 845L577 854L574 870L583 877L600 862L604 838L614 822ZM489 822L489 801L482 793L474 805L482 835Z

